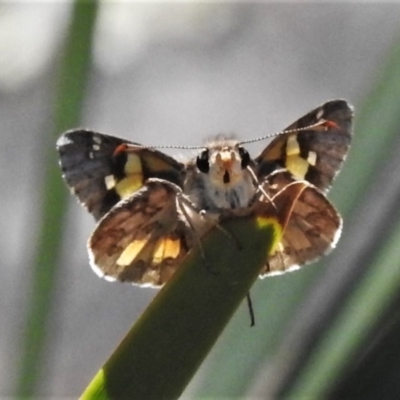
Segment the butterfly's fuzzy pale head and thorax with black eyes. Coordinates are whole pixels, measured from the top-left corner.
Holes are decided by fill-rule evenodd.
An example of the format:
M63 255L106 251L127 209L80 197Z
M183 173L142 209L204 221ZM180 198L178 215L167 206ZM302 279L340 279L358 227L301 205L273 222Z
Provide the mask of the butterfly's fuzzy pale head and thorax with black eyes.
M210 145L189 164L183 190L201 210L248 207L255 194L249 163L247 151L236 142Z

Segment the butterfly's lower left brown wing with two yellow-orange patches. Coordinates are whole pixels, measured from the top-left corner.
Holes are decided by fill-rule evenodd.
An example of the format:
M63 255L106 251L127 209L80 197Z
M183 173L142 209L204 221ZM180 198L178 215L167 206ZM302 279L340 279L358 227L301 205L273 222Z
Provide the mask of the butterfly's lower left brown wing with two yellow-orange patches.
M98 223L88 242L95 272L109 280L143 286L164 284L192 247L179 216L176 189L150 179Z

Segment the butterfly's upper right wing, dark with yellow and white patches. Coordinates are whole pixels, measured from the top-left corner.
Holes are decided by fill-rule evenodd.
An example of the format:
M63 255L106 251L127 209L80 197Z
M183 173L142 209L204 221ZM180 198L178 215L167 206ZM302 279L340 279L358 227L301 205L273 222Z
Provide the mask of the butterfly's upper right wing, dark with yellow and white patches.
M339 172L350 147L353 109L345 100L332 100L290 125L293 130L326 121L314 128L278 135L255 159L262 181L272 171L286 168L326 191Z

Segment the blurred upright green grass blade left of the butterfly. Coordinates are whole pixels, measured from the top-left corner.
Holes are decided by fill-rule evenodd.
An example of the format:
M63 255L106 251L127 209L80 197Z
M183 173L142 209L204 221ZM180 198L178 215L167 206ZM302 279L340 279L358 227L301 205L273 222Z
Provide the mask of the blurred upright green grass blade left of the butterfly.
M46 327L58 259L62 243L62 219L66 211L66 191L55 151L55 140L62 131L76 126L81 117L91 58L91 43L96 20L96 2L76 1L64 53L60 60L54 109L54 131L49 132L42 195L42 225L37 234L32 262L32 285L25 326L22 328L18 357L16 394L34 397L45 352Z

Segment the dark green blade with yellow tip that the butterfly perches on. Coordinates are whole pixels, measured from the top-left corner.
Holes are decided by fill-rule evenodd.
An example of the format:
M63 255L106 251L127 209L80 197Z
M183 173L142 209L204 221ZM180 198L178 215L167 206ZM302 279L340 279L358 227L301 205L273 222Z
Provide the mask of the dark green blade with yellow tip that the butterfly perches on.
M256 280L279 224L224 224L204 239L209 266L192 252L159 292L81 397L177 399ZM243 329L251 329L248 325Z

